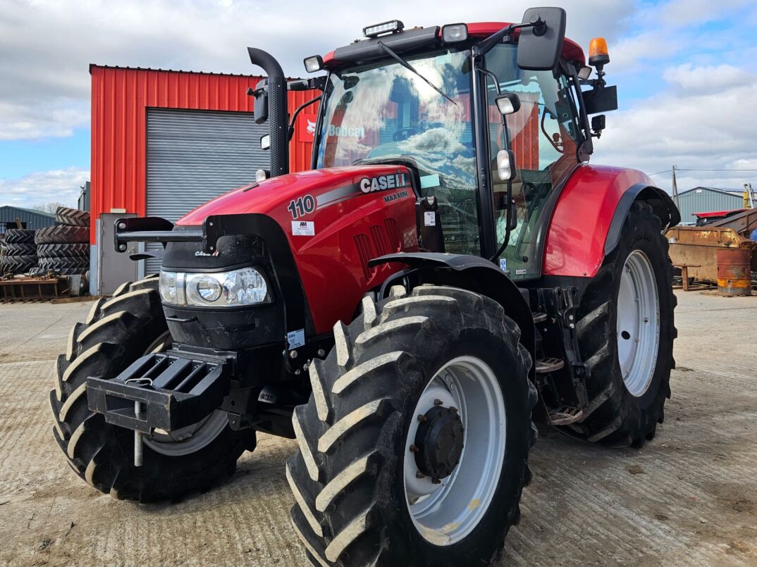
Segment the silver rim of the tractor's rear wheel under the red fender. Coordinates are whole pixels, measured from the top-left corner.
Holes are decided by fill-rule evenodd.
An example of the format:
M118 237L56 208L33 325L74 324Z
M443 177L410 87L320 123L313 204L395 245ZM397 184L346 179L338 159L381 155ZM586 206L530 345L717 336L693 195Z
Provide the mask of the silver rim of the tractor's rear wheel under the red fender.
M618 363L631 395L644 395L657 363L660 320L657 281L650 259L640 250L628 255L618 290Z

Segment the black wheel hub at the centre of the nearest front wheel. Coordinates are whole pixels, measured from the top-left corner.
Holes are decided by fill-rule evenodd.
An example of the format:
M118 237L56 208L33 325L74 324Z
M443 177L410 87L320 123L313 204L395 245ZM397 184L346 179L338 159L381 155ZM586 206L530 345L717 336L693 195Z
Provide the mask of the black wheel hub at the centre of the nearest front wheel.
M447 478L463 454L463 421L456 407L431 407L418 417L415 452L418 470L431 479Z

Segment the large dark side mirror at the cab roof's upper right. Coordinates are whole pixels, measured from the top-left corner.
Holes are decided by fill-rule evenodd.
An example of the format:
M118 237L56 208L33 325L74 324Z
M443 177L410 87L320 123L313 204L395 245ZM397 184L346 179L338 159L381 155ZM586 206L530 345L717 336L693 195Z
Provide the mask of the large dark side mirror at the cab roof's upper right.
M565 39L565 10L528 8L522 21L536 25L520 29L518 67L528 71L553 70Z

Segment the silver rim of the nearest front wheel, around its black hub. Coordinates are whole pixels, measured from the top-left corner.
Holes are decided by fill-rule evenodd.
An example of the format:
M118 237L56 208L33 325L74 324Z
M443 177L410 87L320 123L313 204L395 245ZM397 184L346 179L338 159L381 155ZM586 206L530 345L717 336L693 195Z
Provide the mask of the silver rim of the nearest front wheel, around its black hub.
M425 414L435 400L456 407L463 422L463 452L456 468L440 484L419 472L410 445L419 421L413 419L404 460L405 501L413 524L435 545L466 538L481 522L500 480L505 454L505 404L494 371L479 358L462 356L435 374L416 404L414 416Z

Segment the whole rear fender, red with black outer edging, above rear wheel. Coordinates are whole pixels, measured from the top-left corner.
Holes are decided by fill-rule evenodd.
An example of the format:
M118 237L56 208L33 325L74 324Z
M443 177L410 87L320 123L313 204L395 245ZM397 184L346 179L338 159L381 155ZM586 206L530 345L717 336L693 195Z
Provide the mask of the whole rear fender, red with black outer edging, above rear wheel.
M594 277L615 249L631 204L643 200L662 228L681 215L665 191L636 169L580 166L565 183L547 229L544 276Z

